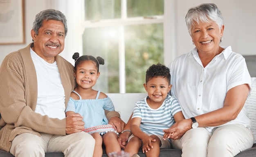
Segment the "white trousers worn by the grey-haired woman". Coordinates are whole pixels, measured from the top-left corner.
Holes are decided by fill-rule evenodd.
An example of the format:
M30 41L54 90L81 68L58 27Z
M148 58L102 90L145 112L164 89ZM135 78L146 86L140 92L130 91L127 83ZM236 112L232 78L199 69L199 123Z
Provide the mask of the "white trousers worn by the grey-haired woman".
M254 136L242 124L229 124L208 132L205 128L188 130L180 139L171 140L182 157L234 157L253 145Z

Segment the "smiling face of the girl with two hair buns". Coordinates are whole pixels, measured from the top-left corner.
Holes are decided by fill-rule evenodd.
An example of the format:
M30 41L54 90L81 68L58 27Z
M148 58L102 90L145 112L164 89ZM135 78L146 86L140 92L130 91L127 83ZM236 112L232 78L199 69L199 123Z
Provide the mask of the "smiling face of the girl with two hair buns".
M99 72L93 61L84 61L76 67L75 78L77 87L92 88L99 77Z

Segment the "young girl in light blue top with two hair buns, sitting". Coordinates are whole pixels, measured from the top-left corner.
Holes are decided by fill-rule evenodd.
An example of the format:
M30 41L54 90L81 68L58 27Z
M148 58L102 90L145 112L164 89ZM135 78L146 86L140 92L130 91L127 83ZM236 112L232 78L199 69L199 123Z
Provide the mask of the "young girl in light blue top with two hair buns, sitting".
M88 132L95 139L93 157L102 157L102 142L106 146L106 153L119 152L121 147L117 141L115 129L108 124L105 111L114 111L111 99L92 87L99 77L99 64L104 64L101 57L81 56L79 53L73 55L75 60L74 76L76 87L70 94L67 104L66 116L79 113L85 122L85 132ZM102 137L101 137L102 136Z

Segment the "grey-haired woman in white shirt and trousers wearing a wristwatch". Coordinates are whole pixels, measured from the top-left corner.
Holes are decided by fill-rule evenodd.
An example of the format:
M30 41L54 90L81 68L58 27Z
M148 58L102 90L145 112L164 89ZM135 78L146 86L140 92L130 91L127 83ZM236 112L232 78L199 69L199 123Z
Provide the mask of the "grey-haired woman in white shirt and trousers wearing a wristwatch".
M219 46L224 25L215 4L189 9L186 25L195 48L169 66L171 94L185 119L164 131L173 132L169 138L182 157L233 157L253 145L244 106L251 83L245 59Z

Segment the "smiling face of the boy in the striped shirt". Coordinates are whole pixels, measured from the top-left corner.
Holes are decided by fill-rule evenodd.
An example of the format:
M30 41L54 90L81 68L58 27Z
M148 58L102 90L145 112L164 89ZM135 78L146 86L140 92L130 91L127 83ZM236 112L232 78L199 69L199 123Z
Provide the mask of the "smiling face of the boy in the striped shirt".
M171 85L169 85L167 79L162 76L151 78L147 84L144 84L144 87L150 98L148 101L151 102L151 104L154 103L158 105L162 105L168 92L171 90Z

